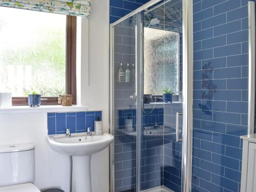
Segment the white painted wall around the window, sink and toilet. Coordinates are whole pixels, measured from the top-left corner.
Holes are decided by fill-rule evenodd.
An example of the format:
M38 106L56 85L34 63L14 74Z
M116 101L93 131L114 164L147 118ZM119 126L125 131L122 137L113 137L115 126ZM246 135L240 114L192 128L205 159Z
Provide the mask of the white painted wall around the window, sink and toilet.
M81 73L78 101L90 111L101 110L103 131L109 132L109 1L94 0L91 9L91 84L88 86L88 19L78 19ZM79 28L80 26L80 28ZM78 53L79 53L78 49ZM79 71L77 71L79 72ZM51 150L47 141L47 114L0 114L0 144L35 144L35 185L70 191L71 158ZM109 149L92 156L92 190L109 191ZM86 171L86 170L84 170Z

